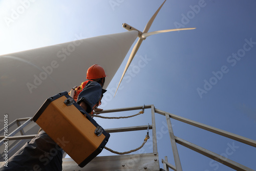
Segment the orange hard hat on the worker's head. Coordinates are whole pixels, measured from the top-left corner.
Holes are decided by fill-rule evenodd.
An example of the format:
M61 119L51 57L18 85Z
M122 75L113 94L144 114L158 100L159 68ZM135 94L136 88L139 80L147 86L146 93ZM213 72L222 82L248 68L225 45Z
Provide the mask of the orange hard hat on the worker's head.
M97 78L103 78L106 77L105 71L104 69L95 64L93 66L91 66L88 70L87 70L87 79L97 79Z

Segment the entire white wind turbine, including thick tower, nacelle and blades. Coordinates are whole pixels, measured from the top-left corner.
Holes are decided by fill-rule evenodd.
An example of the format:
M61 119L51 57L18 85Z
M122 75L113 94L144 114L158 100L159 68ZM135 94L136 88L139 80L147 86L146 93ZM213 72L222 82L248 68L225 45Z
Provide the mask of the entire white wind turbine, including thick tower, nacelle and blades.
M105 69L108 79L104 87L108 87L137 37L139 40L133 48L123 76L147 36L184 30L147 33L161 7L143 32L123 24L129 31L90 38L76 35L75 40L62 44L0 55L0 96L5 97L0 99L0 104L3 104L0 114L9 114L10 121L33 116L45 99L79 86L85 80L87 69L95 63ZM15 108L13 97L18 101ZM35 128L34 133L37 131Z

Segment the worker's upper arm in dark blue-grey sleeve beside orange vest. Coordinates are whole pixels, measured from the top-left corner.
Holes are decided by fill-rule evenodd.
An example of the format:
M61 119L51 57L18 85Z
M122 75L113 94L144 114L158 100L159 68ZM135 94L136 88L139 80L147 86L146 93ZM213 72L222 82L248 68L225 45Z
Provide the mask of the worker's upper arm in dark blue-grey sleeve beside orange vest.
M82 90L82 92L78 95L77 103L82 108L86 108L87 113L91 113L93 106L99 101L101 93L102 88L98 82L89 82L87 86Z

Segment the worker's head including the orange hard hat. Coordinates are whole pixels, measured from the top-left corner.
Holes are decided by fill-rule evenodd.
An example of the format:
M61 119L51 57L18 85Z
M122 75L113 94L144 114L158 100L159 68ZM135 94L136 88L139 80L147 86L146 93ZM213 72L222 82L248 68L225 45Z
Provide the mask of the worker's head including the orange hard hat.
M105 82L105 71L104 69L95 64L93 66L91 66L88 70L87 70L87 79L93 80L93 81L97 81L101 84L101 87L103 87L104 82Z

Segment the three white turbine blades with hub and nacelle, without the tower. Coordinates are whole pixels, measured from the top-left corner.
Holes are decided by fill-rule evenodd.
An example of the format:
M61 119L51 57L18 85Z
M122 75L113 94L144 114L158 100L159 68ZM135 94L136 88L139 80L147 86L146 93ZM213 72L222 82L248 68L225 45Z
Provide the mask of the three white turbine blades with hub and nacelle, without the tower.
M119 81L119 84L118 84L118 86L117 86L116 92L117 92L117 90L118 90L118 88L119 88L119 86L120 86L120 83L121 83L121 81L122 81L122 79L123 79L123 77L124 77L124 74L126 73L127 69L129 68L129 66L130 66L130 64L131 64L131 62L132 62L132 60L133 60L135 54L137 53L137 51L138 51L138 49L139 49L139 47L140 47L142 41L145 40L146 37L151 36L151 35L154 35L154 34L165 33L165 32L171 32L171 31L180 31L180 30L192 30L192 29L196 29L196 28L169 29L169 30L160 30L160 31L154 31L154 32L148 33L148 30L150 30L150 27L151 27L152 23L154 22L154 19L156 18L158 12L160 11L160 9L162 8L162 6L164 5L165 2L166 2L166 0L162 3L162 5L158 8L158 10L155 12L155 14L154 14L154 15L151 17L151 19L148 21L148 23L146 24L146 26L145 26L143 32L141 32L141 31L135 29L134 27L132 27L132 26L126 24L126 23L124 23L124 24L122 25L123 28L125 28L125 29L128 30L128 31L137 30L137 31L139 32L139 34L138 34L139 40L137 41L136 45L134 46L134 48L133 48L133 50L132 50L132 53L131 53L131 55L130 55L130 57L129 57L127 63L126 63L126 66L125 66L125 68L124 68L123 74L122 74L121 79L120 79L120 81ZM116 92L115 92L115 95L116 95ZM114 95L114 97L115 97L115 95Z

